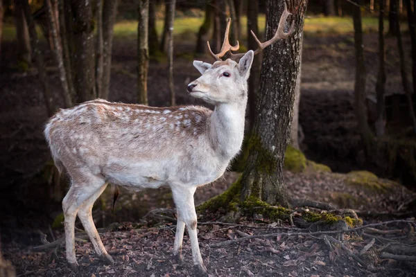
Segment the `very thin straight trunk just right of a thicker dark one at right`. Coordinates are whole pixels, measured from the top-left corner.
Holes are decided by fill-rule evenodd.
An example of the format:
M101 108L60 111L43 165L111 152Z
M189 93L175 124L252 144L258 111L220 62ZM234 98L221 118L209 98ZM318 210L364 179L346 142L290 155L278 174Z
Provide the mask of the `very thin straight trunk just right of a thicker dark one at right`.
M379 0L379 73L377 74L377 119L375 123L376 136L385 133L385 48L384 48L384 0Z

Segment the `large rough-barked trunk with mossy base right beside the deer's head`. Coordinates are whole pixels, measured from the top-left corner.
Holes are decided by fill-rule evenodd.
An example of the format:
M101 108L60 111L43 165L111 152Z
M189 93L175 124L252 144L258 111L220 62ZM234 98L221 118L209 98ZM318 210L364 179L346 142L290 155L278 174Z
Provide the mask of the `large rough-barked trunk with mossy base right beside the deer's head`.
M295 33L264 51L256 116L250 136L250 154L241 177L241 199L256 197L269 204L288 206L284 186L284 153L288 145L300 67L300 46L306 1L288 1L295 13ZM275 35L283 1L269 1L266 39ZM295 12L296 11L296 12Z

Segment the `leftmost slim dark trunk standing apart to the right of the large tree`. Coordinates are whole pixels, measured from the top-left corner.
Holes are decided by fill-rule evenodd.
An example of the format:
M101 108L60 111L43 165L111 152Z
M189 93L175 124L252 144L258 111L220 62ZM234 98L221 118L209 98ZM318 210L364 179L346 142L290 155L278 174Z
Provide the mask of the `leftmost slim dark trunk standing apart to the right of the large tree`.
M354 85L354 105L358 129L365 147L366 157L369 157L372 148L372 133L367 122L367 112L365 109L365 81L367 73L365 71L364 51L363 51L363 25L361 24L361 0L356 0L358 6L352 4L354 21L354 46L356 50L356 78Z

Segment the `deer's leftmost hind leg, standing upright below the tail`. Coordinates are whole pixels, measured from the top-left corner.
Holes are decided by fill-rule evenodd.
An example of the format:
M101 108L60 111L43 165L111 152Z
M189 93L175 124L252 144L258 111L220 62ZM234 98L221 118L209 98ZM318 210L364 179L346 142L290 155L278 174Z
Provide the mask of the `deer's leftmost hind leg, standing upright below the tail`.
M65 217L65 248L67 253L67 261L73 269L78 267L78 262L75 256L75 220L76 214L80 207L96 193L105 181L94 175L81 175L77 172L73 175L71 188L62 201L62 208ZM71 175L71 174L70 174Z

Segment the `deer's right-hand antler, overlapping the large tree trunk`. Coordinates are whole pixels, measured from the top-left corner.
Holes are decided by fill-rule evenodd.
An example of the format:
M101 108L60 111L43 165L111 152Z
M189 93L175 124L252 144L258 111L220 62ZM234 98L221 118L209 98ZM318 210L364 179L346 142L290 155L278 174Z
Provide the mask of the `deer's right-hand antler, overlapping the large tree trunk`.
M252 30L250 30L252 36L254 37L254 39L256 40L257 44L259 45L259 47L256 49L256 51L254 51L254 55L257 55L259 53L261 53L261 51L263 51L264 48L266 48L267 46L274 44L275 42L277 42L278 39L287 39L290 35L292 35L293 30L295 30L295 21L292 22L291 27L288 30L288 33L284 32L284 25L286 23L286 19L288 19L288 16L291 15L291 12L288 12L288 8L286 6L286 2L284 2L284 11L281 14L280 20L279 20L279 27L277 27L277 31L275 33L275 36L272 37L272 39L268 40L267 42L260 42L259 39L256 37L256 35L254 34L254 32ZM232 60L238 60L239 58L243 57L243 53L240 54L233 54L231 51L229 51L230 53L230 58Z

